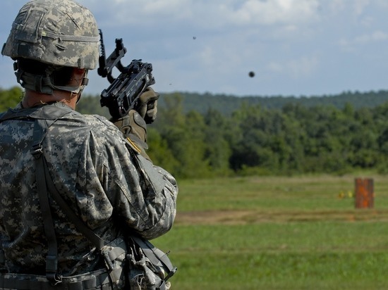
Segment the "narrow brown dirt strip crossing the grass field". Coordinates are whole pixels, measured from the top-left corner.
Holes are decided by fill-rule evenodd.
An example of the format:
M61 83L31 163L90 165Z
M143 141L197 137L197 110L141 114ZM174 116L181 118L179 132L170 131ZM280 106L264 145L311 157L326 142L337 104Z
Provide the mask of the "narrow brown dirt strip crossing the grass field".
M387 221L388 210L272 211L206 210L177 213L178 225L245 225L263 222Z

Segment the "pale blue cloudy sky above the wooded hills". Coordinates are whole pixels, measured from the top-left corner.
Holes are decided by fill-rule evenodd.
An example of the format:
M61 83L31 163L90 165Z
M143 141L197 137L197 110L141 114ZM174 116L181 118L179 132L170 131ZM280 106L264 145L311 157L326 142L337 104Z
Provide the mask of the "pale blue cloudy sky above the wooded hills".
M25 2L1 0L0 44ZM78 3L95 15L107 54L122 38L123 65L152 63L158 92L324 96L388 89L387 0ZM0 69L0 88L15 85L11 59L1 56ZM109 87L97 70L89 77L85 94Z

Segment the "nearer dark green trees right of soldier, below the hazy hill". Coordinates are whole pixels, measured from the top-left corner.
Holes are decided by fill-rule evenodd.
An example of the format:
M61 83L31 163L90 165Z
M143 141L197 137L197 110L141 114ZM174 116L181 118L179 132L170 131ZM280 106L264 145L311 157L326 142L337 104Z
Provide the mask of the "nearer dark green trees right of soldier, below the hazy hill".
M228 117L214 108L183 113L178 96L166 101L150 148L155 156L166 151L161 161L178 176L388 171L388 103L358 109L243 103Z

